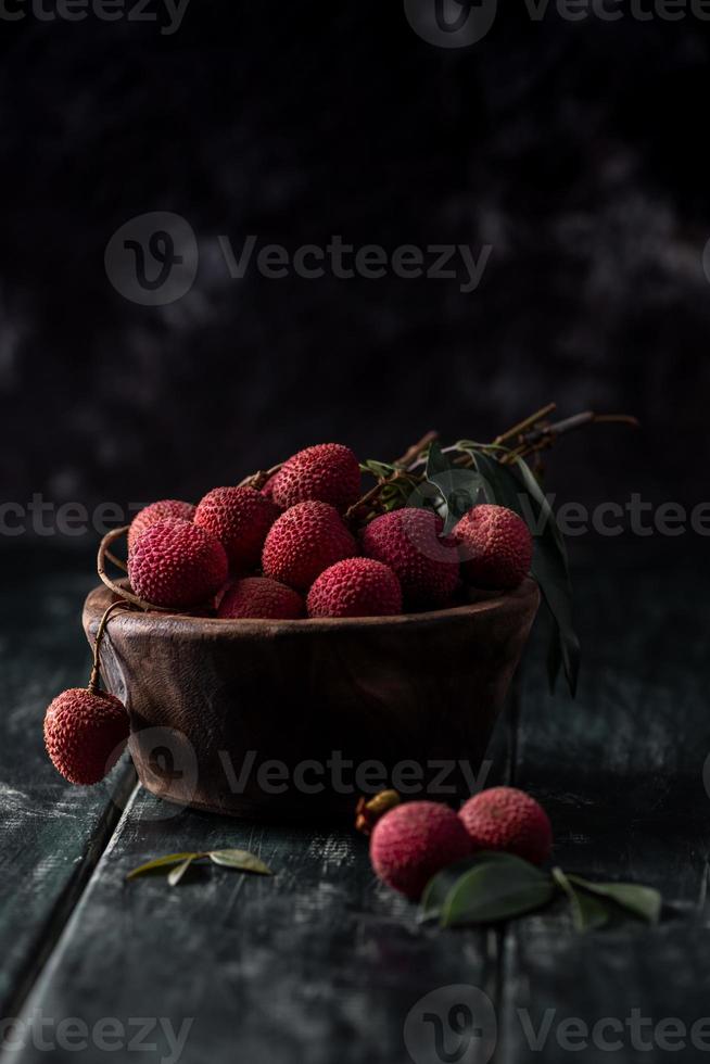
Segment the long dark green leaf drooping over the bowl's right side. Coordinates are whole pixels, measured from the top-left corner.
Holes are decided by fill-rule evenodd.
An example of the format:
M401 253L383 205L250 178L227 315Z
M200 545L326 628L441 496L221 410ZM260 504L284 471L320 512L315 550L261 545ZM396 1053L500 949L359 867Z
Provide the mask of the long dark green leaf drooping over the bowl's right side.
M533 533L535 550L532 572L553 617L553 639L556 644L548 656L550 685L554 685L561 662L570 692L575 695L580 641L572 623L572 587L567 549L553 509L530 467L521 458L518 459L518 469L522 481L509 466L502 465L483 452L476 452L476 464L483 478L489 502L515 510L528 522ZM529 501L529 510L522 505L524 497Z

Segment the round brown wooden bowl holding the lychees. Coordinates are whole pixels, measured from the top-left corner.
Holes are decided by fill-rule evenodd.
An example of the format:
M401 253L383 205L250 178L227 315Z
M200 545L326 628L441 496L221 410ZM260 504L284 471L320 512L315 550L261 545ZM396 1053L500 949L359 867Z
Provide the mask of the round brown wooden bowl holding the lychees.
M96 637L106 587L84 609ZM141 783L237 816L352 818L388 785L472 789L534 620L533 580L455 609L263 621L116 611L101 646Z

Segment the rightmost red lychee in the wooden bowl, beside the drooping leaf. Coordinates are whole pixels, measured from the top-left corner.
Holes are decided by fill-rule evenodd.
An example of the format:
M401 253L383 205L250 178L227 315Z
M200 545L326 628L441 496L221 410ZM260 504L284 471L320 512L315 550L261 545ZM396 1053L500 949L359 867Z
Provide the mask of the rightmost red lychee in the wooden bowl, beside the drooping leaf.
M532 535L523 519L506 506L474 506L452 534L459 544L464 578L474 587L512 588L528 575Z

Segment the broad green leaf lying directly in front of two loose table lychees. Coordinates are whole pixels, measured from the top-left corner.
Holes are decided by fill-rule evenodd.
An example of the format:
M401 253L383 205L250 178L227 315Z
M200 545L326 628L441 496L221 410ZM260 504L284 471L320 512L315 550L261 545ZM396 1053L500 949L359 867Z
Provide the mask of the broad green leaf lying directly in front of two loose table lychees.
M465 872L448 891L441 926L509 920L542 908L554 895L550 876L528 861L520 858L481 861L477 867Z

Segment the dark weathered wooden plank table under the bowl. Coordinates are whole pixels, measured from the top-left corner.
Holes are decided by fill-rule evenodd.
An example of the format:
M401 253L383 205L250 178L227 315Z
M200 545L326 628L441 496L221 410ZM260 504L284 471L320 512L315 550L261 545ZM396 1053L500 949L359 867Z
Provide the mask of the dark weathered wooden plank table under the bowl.
M533 646L519 713L493 743L491 782L545 802L558 863L656 886L672 907L656 928L631 922L586 936L557 911L490 932L421 926L375 881L354 833L190 811L166 819L126 763L111 786L65 785L45 758L41 719L50 697L86 683L90 572L78 555L3 555L8 1060L174 1061L181 1035L189 1064L397 1064L409 1050L416 1064L468 1064L489 1051L511 1064L707 1059L710 579L698 565L580 572L578 700L549 696ZM213 869L175 889L163 878L126 883L152 856L217 846L254 850L278 875ZM469 1039L449 1024L470 988L491 1012L476 999L484 1006ZM441 1052L416 1036L418 1003L432 991Z

